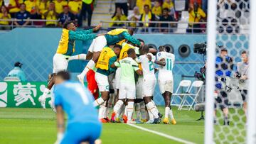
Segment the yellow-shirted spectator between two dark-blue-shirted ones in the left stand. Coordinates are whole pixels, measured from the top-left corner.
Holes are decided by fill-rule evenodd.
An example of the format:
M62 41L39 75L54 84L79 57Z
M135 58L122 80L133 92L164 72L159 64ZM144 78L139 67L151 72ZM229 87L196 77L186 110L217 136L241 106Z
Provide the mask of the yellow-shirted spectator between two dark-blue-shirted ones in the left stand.
M50 2L48 11L43 13L43 17L46 18L46 20L57 20L58 19L58 13L55 11L55 4L53 2ZM57 22L55 21L47 21L46 26L48 27L55 27L57 25Z

